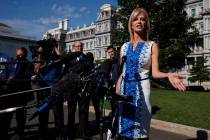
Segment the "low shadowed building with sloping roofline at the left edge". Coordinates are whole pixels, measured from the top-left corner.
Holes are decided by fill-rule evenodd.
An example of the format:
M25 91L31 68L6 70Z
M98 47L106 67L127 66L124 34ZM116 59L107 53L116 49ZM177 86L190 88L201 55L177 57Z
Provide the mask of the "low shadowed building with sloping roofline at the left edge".
M25 47L28 49L30 45L36 43L31 37L20 35L12 27L0 23L0 52L6 53L11 57L15 57L16 48Z

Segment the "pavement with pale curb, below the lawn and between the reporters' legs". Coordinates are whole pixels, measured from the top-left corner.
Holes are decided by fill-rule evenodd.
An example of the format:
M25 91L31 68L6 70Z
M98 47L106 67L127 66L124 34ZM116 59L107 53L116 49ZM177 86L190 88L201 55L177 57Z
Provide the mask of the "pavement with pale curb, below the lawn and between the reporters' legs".
M33 110L31 110L33 112ZM105 139L105 132L108 125L111 124L111 120L108 117L110 110L105 110L104 120L103 120L103 132ZM65 124L67 124L67 107L64 104L64 117L65 117ZM76 112L76 123L78 123L78 112ZM92 106L90 106L89 111L89 131L90 131L90 139L91 140L101 140L100 139L100 131L95 127L95 112ZM12 126L14 127L16 122L12 122ZM37 135L38 130L38 118L27 122L26 128L26 140L36 140L33 139ZM52 135L50 140L53 140L54 134L54 116L52 110L50 111L50 118L49 118L49 132ZM199 128L193 128L185 125L154 120L152 119L151 122L151 132L150 132L150 140L208 140L210 137L209 131L207 130L200 130ZM79 139L76 139L79 140ZM80 139L81 140L81 139ZM210 138L209 138L210 140Z

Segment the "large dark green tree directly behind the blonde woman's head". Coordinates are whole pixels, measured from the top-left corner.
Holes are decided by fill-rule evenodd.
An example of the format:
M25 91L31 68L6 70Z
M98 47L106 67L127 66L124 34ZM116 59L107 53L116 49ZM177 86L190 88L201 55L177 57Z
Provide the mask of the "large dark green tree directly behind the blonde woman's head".
M150 40L160 47L160 68L162 70L181 69L198 37L193 27L194 19L187 17L184 11L186 0L118 0L121 7L116 18L123 24L115 31L113 43L121 46L129 40L128 19L134 8L143 7L151 20ZM191 29L191 32L189 32Z

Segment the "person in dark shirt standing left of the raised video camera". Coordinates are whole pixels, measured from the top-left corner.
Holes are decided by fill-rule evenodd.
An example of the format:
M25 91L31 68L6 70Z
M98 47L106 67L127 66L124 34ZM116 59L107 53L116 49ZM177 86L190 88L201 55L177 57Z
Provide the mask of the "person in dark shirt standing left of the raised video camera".
M31 89L30 77L33 69L31 69L31 64L27 63L27 54L28 51L24 47L16 49L16 63L14 65L15 71L10 77L11 87L13 89L12 92L21 92ZM18 94L11 97L14 106L23 107L15 112L17 127L13 137L19 137L19 139L24 138L26 123L26 110L24 107L33 99L34 97L32 93Z

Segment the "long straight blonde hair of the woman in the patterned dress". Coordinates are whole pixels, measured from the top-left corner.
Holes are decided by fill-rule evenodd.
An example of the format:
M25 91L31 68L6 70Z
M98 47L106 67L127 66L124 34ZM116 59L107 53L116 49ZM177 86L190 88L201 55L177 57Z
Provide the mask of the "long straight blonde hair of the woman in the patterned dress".
M146 40L149 40L149 32L150 32L150 21L149 21L149 16L148 13L145 9L143 8L136 8L133 10L133 12L130 15L129 18L129 22L128 22L128 29L129 29L129 33L130 33L130 40L131 42L133 42L134 39L134 34L133 34L133 30L132 30L132 21L136 18L136 16L138 16L140 13L144 13L145 15L145 20L146 20L146 30L144 32L144 37Z

